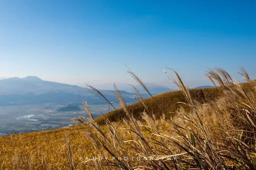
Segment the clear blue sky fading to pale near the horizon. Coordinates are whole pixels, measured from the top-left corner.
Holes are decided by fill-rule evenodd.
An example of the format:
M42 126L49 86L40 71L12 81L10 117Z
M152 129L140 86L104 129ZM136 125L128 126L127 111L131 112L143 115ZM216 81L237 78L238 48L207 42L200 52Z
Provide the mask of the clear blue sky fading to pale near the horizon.
M211 84L207 68L256 79L256 1L0 1L0 77L35 75L82 85L145 82Z

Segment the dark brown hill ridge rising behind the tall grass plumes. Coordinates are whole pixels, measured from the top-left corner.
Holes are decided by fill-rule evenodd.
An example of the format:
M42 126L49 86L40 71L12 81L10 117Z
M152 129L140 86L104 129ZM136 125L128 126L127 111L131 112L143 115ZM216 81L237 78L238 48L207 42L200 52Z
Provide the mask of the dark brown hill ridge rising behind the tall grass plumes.
M246 91L250 91L250 86L248 83L241 83L242 86ZM217 99L222 93L221 87L209 87L209 88L203 88L203 89L190 89L190 94L196 102L205 103L209 102L211 100ZM159 104L159 106L162 108L162 110L168 114L169 116L172 116L172 113L177 111L177 108L182 106L183 108L188 109L188 107L184 104L177 103L177 102L185 102L185 97L182 94L181 91L171 91L166 92L162 94L158 94L154 96L156 102ZM145 103L147 104L148 110L150 113L154 113L156 117L159 117L159 115L162 115L161 110L156 105L154 100L150 97L148 99L145 99ZM134 114L134 117L139 119L140 113L144 111L144 107L141 102L136 102L128 106L129 110L132 111ZM96 119L96 121L99 124L102 124L104 121L104 118L109 119L110 121L119 121L121 118L123 118L125 115L122 108L118 109L118 112L116 110L110 111L109 113L106 113L103 116L100 116Z

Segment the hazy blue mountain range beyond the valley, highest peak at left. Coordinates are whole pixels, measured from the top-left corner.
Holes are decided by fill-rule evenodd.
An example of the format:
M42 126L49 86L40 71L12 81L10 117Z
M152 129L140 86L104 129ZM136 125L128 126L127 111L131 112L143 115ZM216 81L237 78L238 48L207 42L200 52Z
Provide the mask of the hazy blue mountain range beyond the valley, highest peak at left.
M132 89L131 87L129 87ZM122 89L119 87L119 89ZM152 94L172 91L168 87L150 84ZM141 89L139 89L141 90ZM111 102L117 102L114 91L100 90L100 92ZM144 94L143 97L148 97ZM136 102L132 91L126 92L121 90L126 102ZM0 105L23 105L37 103L56 103L67 104L81 102L80 95L90 104L106 103L98 95L90 92L87 88L74 86L70 84L56 83L53 81L44 81L36 76L27 76L25 78L8 78L0 80Z

